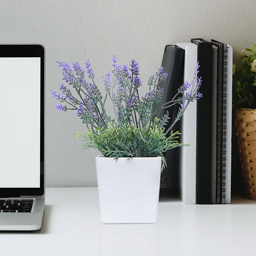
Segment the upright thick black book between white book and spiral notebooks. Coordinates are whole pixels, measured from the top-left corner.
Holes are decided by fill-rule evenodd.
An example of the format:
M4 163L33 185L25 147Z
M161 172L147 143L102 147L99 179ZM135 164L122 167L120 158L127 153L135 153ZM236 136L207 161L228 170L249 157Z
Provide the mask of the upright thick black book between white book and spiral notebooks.
M196 204L212 204L212 42L191 39L198 46L202 78L196 116Z

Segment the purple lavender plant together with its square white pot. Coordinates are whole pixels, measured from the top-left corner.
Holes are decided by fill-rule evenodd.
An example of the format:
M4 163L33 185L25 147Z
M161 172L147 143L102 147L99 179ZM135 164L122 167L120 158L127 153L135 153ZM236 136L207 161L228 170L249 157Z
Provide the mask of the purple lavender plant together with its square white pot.
M191 84L185 82L175 97L162 106L164 89L159 82L166 79L163 67L148 79L148 92L141 97L142 86L138 63L118 65L113 56L113 70L103 76L105 94L94 82L95 74L87 61L85 69L79 63L73 67L58 62L63 71L60 94L52 90L59 100L56 109L74 110L86 125L87 131L78 132L85 148L97 148L102 156L96 158L100 210L103 223L155 223L158 215L161 169L166 166L164 152L178 146L179 132L172 127L188 104L202 95L198 92L201 78L197 78L197 65ZM85 76L90 79L87 81ZM76 96L74 96L74 93ZM106 100L113 103L114 117L105 108ZM168 113L156 118L159 108L180 105L177 117L169 129Z

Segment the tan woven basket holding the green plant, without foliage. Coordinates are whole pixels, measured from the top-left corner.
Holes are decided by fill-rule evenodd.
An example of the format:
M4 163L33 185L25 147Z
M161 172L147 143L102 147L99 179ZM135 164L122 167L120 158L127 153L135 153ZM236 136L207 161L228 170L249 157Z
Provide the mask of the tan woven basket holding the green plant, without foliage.
M236 139L247 198L256 200L256 109L235 111Z

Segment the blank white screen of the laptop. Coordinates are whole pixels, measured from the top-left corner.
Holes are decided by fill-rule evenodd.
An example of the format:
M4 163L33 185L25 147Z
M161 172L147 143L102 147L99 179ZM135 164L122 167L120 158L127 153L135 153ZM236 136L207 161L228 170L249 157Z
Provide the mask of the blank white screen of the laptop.
M0 188L40 187L39 57L0 57Z

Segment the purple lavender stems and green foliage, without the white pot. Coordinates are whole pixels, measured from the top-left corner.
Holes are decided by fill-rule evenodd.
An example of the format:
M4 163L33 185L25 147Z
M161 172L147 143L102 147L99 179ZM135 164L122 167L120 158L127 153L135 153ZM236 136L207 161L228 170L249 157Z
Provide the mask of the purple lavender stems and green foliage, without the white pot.
M163 153L184 146L183 142L177 140L180 133L172 132L172 128L189 103L202 97L199 92L199 65L194 69L193 81L182 84L170 102L159 106L164 93L159 83L167 77L163 67L150 76L149 90L141 96L139 90L142 80L138 63L131 60L130 66L121 66L116 57L113 56L112 60L112 71L102 77L104 93L95 84L95 74L89 60L85 68L81 68L78 62L73 63L72 68L67 63L57 62L68 87L61 84L59 94L51 90L52 96L60 102L56 110L74 110L86 124L87 132L77 134L84 139L85 148L97 148L103 156L109 158L161 156L164 167L166 162ZM107 114L105 103L108 99L112 102L114 117ZM165 129L170 119L168 112L161 119L156 118L156 113L159 108L169 108L176 104L180 108L175 121L169 129Z

